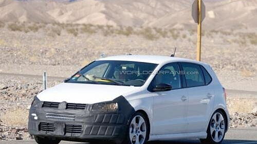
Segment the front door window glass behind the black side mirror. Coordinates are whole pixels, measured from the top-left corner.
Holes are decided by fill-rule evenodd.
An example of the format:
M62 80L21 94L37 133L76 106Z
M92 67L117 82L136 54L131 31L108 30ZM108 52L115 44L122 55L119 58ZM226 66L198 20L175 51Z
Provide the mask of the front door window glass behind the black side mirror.
M176 63L163 66L154 77L151 87L159 84L168 84L172 89L181 88L179 67Z

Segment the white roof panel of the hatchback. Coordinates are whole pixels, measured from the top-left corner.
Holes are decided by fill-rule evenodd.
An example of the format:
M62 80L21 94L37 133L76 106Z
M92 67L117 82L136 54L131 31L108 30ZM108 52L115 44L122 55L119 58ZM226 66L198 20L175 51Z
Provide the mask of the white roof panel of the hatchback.
M161 56L161 55L117 55L117 56L108 56L100 58L98 60L123 60L123 61L138 61L143 63L153 63L153 64L162 64L162 63L171 63L177 61L184 61L189 63L204 64L196 60L179 58L179 57L170 57L170 56Z

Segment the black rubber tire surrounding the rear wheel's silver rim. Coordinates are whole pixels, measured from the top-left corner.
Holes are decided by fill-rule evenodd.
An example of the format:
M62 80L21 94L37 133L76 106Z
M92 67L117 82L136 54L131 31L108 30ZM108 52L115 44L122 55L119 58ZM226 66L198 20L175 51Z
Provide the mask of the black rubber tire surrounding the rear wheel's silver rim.
M219 141L219 142L215 142L215 141L213 140L212 135L211 135L211 130L210 130L210 125L211 125L212 117L213 117L213 115L216 114L216 113L222 114L222 116L223 116L223 118L224 118L224 123L225 123L225 132L224 132L224 135L223 135L221 141ZM226 116L225 116L224 112L221 111L221 110L216 110L216 111L212 114L211 119L210 119L210 121L209 121L208 129L207 129L207 138L206 138L206 139L200 139L201 143L221 144L222 141L223 141L223 139L224 139L224 137L225 137L227 127L228 127L228 124L227 124L227 120L226 120Z

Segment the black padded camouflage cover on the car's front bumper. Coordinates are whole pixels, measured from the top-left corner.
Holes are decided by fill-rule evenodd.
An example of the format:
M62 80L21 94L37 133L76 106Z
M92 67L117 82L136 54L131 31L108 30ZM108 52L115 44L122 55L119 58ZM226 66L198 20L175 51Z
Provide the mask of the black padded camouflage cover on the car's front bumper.
M111 102L118 103L118 111L93 112L89 110L90 105L85 110L44 108L43 101L40 101L37 107L30 108L28 131L31 135L72 141L121 141L135 110L123 96ZM32 114L36 114L36 118Z

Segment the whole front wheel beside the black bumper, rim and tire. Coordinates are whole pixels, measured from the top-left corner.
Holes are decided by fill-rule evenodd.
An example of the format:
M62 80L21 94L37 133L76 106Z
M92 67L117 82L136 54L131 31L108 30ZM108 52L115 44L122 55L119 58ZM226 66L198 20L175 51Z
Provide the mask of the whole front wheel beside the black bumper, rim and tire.
M140 112L136 112L132 116L128 125L128 132L124 144L145 144L149 138L149 122L146 116Z

